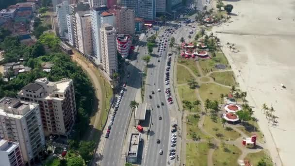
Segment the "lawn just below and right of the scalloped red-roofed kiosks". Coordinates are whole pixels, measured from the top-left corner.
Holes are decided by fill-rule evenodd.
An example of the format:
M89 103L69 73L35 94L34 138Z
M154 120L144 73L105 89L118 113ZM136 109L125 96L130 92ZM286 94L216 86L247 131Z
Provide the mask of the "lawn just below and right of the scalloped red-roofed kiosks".
M226 59L225 55L221 51L216 52L216 56L212 57L212 59L199 60L199 65L205 74L211 71L217 70L215 68L216 64L223 64L223 65L229 66L228 60Z

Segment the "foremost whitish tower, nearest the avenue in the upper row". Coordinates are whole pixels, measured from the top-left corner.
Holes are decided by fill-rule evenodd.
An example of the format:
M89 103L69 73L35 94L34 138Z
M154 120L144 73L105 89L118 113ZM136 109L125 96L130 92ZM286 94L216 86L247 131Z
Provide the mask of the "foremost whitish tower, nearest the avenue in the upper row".
M109 24L103 24L100 29L100 37L102 67L112 78L118 70L115 28Z

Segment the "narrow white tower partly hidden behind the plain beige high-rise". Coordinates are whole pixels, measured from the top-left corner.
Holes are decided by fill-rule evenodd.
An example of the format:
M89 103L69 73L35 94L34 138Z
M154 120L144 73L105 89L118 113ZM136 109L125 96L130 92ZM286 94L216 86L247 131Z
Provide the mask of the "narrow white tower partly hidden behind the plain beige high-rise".
M78 11L87 11L89 10L89 3L88 2L80 2L70 5L70 14L72 16L72 23L73 23L73 46L78 49L78 35L77 35L77 25L76 25L76 12Z

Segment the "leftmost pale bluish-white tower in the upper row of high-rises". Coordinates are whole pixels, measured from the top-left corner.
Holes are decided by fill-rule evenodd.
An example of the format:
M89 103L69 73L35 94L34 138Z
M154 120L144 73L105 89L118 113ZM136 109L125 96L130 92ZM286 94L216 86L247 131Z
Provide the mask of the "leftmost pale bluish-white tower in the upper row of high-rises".
M67 1L56 5L58 30L61 37L65 37L65 32L67 31L67 19L66 15L70 13L69 5Z

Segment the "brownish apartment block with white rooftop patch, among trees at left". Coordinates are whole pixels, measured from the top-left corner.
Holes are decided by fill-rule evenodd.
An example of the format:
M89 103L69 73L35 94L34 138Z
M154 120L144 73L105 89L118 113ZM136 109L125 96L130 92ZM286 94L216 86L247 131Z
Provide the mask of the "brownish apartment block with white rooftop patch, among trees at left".
M40 78L18 92L20 100L38 103L45 135L68 135L74 125L76 101L73 81L49 82Z

